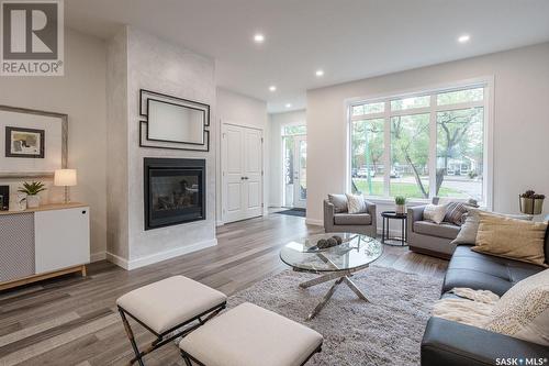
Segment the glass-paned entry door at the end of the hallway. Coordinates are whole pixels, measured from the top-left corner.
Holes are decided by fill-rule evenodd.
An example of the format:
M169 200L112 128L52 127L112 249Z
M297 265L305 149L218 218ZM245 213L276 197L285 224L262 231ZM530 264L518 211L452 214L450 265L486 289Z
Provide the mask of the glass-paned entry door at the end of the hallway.
M307 142L305 135L284 136L284 206L306 208Z

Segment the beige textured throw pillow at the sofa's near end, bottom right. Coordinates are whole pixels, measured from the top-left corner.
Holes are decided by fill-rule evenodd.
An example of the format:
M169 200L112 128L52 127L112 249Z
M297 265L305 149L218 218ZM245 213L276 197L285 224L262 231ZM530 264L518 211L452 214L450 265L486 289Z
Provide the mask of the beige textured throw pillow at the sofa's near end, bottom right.
M505 292L484 328L549 345L549 269L523 279Z

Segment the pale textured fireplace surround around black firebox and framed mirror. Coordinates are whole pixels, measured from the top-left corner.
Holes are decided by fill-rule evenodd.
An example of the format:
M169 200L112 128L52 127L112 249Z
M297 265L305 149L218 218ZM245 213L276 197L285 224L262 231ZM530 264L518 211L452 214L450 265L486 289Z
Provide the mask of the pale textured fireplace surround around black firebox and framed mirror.
M133 27L108 44L107 257L125 269L216 244L214 60ZM211 106L210 152L139 147L139 89ZM205 158L206 220L145 231L144 157Z

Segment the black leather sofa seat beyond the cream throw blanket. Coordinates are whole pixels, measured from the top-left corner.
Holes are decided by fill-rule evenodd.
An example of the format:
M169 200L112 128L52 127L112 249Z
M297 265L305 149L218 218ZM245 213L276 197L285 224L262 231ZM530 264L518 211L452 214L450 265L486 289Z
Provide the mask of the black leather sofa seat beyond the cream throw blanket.
M442 293L455 287L467 287L503 296L519 280L544 269L528 263L475 253L469 245L458 245L446 271Z

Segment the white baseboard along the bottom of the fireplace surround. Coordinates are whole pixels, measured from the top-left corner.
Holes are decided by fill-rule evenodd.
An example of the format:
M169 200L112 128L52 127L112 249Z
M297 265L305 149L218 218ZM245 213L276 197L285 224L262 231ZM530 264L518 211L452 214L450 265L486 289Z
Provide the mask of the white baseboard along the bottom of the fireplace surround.
M217 240L212 239L212 240L199 242L199 243L195 243L192 245L180 246L177 248L155 253L152 255L147 255L147 256L131 259L131 260L122 258L122 257L120 257L115 254L112 254L112 253L107 253L107 259L109 262L114 263L119 267L122 267L126 270L132 270L132 269L136 269L136 268L141 268L141 267L145 267L145 266L158 263L158 262L163 262L166 259L171 259L171 258L178 257L178 256L183 255L183 254L189 254L191 252L197 252L200 249L204 249L206 247L215 246L215 245L217 245Z

